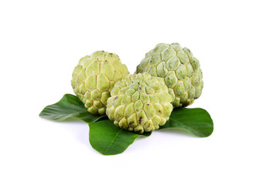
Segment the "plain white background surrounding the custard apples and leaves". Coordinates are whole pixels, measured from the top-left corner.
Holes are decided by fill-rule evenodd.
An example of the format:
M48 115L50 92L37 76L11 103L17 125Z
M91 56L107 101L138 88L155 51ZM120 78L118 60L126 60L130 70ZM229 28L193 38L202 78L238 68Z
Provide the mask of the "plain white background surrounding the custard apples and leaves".
M0 184L256 184L254 1L1 1ZM87 123L40 111L73 93L84 55L117 53L135 72L145 52L179 42L200 60L214 131L159 130L103 156Z

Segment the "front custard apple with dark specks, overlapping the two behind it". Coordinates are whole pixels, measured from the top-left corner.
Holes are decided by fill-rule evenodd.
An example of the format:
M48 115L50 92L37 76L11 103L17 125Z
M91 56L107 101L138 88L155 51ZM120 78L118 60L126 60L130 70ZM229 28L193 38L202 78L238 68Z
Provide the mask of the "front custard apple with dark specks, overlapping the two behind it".
M162 78L128 75L114 84L106 114L121 129L151 132L166 123L172 113L172 96Z

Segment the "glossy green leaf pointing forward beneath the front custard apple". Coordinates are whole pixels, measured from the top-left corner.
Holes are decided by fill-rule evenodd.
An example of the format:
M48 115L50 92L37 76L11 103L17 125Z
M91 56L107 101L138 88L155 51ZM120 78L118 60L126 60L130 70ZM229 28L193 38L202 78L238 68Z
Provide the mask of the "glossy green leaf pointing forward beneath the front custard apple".
M114 123L105 119L96 123L89 123L90 145L99 153L104 155L114 155L124 152L131 143L139 136L150 136L151 133L144 133L142 135L122 130Z

